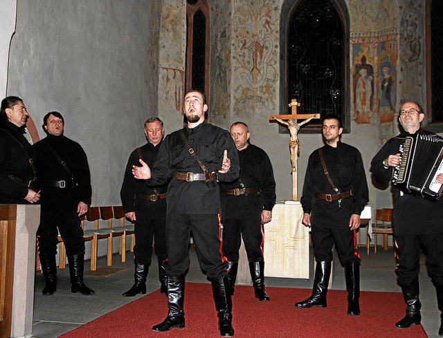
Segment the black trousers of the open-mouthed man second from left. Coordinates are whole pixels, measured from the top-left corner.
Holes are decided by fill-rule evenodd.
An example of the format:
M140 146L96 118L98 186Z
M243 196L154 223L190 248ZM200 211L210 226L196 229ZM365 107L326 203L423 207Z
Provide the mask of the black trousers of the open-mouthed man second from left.
M77 207L65 210L40 209L40 225L37 229L39 254L57 254L58 232L63 238L67 255L84 254L83 229Z

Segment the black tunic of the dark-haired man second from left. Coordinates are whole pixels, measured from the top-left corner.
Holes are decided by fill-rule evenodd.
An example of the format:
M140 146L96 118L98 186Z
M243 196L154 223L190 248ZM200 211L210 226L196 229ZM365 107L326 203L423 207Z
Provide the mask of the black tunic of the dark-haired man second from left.
M48 147L48 144L51 145ZM42 207L77 207L79 201L91 204L91 174L86 153L77 142L64 135L48 134L46 138L34 144L37 154L37 184L42 190ZM60 163L66 163L74 177L75 189L71 188L71 176ZM48 187L45 182L65 180L66 188Z

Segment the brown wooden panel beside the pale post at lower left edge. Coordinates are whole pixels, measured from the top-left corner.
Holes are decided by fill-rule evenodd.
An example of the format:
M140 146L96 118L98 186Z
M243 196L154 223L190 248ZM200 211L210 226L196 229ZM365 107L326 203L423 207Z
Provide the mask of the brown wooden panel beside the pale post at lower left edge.
M0 205L0 338L10 337L17 205Z

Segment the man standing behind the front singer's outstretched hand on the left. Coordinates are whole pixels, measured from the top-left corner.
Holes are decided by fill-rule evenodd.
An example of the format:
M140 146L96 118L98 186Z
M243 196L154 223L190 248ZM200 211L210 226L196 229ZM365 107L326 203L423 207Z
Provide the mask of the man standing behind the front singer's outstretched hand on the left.
M166 293L166 273L164 261L168 258L165 242L166 191L168 185L148 187L145 180L136 180L132 166L144 160L152 167L163 140L163 122L159 118L149 118L145 122L147 144L132 151L125 170L120 196L125 216L135 222L136 245L134 246L135 283L123 294L132 297L146 293L146 277L151 265L152 241L155 234L155 253L159 261L160 292Z

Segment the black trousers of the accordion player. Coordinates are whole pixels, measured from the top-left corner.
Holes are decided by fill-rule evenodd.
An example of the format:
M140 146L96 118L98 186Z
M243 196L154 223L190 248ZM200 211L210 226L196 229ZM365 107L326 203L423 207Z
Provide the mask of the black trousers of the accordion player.
M420 250L426 255L428 274L435 286L443 287L443 234L395 235L399 285L418 281Z

